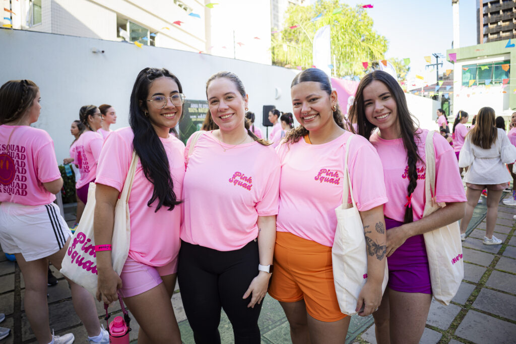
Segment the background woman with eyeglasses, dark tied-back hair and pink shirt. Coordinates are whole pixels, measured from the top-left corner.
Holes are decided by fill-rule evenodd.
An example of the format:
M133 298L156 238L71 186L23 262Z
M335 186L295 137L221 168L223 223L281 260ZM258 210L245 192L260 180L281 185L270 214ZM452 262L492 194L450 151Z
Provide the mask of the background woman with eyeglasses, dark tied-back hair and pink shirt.
M101 127L102 115L95 105L85 105L79 110L79 120L85 128L83 134L75 141L75 153L72 158L80 170L79 181L75 184L77 197L86 204L89 185L95 181L96 165L102 149L102 135L96 133Z

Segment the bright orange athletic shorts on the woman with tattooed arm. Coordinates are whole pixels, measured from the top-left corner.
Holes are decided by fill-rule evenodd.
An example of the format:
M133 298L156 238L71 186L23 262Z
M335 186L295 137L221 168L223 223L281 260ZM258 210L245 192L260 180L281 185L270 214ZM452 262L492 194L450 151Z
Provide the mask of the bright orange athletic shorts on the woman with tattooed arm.
M335 294L331 247L292 233L276 232L273 264L271 297L280 302L304 300L307 313L320 321L347 317L338 307Z

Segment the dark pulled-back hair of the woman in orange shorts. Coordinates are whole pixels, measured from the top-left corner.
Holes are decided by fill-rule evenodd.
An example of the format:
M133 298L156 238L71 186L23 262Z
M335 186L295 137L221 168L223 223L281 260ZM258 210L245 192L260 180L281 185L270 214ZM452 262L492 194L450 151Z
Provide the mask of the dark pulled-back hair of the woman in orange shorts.
M314 81L315 83L319 83L319 87L321 90L325 91L328 96L331 95L332 87L330 83L330 79L325 72L321 71L317 68L308 68L299 73L292 80L291 88L296 86L297 84L304 83L305 81ZM335 105L335 109L333 111L333 120L337 123L338 126L344 128L344 122L342 120L341 109L338 107L338 104ZM287 144L296 143L305 135L308 135L309 130L305 129L302 125L299 125L297 128L293 130L289 130L285 136L285 142Z

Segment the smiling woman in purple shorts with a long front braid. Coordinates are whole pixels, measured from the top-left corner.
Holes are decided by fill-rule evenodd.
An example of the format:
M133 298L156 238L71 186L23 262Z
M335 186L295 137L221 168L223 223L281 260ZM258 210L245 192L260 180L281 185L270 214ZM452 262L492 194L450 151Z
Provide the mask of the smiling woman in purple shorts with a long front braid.
M416 126L397 81L375 71L362 78L351 123L367 138L382 161L389 202L384 205L389 284L373 313L378 343L418 343L432 300L423 233L464 215L466 201L457 158L441 135L433 135L436 154L436 201L446 207L423 217L425 207L425 140ZM378 130L375 130L378 128Z

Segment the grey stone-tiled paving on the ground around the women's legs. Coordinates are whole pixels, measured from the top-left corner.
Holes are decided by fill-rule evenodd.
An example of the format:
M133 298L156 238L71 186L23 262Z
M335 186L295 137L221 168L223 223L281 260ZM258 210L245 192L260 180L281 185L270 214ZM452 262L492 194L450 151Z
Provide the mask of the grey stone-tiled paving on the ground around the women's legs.
M502 245L484 245L486 200L482 199L475 209L468 229L469 237L464 241L464 280L449 306L432 301L422 343L514 343L516 342L516 207L498 208L495 236L502 239ZM73 215L66 212L69 223ZM49 312L51 328L57 335L72 332L75 342L84 342L86 332L75 314L66 280L59 272L54 274L59 283L49 287ZM24 282L20 269L8 261L0 251L0 313L6 320L0 324L9 327L11 334L0 340L4 343L36 342L30 330L23 307ZM175 315L179 322L183 342L193 343L193 336L183 310L181 293L172 297ZM101 323L104 308L97 306ZM111 319L121 315L120 306L109 308ZM279 303L266 297L259 320L262 343L289 343L289 327ZM132 317L132 342L136 342L138 324ZM231 323L222 315L219 330L223 343L232 343ZM376 343L371 316L353 316L346 343Z

